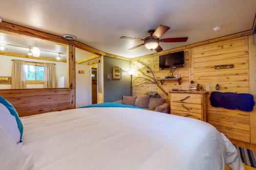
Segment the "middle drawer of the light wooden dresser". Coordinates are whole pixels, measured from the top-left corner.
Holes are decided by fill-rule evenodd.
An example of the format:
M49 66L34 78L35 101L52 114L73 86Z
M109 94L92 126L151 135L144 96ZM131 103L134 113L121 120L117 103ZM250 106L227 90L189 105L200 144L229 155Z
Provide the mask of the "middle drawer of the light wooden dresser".
M202 113L202 105L200 104L172 102L170 108L173 110Z

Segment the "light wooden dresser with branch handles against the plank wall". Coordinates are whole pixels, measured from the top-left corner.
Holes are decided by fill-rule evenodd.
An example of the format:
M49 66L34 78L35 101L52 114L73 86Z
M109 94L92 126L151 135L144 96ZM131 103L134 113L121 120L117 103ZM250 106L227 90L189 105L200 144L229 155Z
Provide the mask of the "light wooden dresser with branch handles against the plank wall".
M171 91L170 114L206 122L206 95L208 91Z

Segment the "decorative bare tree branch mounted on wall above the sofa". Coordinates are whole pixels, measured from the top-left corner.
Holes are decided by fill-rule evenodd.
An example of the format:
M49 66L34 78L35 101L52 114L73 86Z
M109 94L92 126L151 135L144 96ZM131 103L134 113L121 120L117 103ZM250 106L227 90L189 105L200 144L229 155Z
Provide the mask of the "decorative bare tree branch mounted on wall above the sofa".
M142 73L142 75L144 75L144 76L146 76L146 77L152 79L152 80L150 80L150 79L147 79L147 78L144 78L144 77L137 77L137 78L143 78L143 79L145 79L146 81L150 81L150 82L143 82L143 83L141 83L141 84L156 84L156 85L164 92L164 94L168 95L168 93L164 91L164 89L162 88L162 86L159 85L159 83L158 83L158 81L157 81L157 79L156 79L156 77L155 77L154 71L153 71L149 66L147 66L145 63L143 63L142 61L137 61L137 62L138 62L138 63L141 63L141 64L144 65L148 70L150 70L149 72L151 72L151 74L152 74L152 76L153 76L153 77L151 77L151 76L146 75L144 72L142 72L142 70L140 70L139 67L135 68L135 69L137 69L138 71L140 71L140 72ZM135 78L135 79L137 79L137 78ZM141 84L139 84L139 85L141 85ZM136 85L136 86L139 86L139 85Z

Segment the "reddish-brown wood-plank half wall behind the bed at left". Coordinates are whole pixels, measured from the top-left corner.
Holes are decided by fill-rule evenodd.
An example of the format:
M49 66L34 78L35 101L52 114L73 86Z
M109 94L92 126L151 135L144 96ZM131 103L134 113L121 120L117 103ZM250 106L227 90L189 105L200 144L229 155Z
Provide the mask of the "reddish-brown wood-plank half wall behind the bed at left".
M69 88L0 90L0 95L15 107L20 117L68 110L73 103Z

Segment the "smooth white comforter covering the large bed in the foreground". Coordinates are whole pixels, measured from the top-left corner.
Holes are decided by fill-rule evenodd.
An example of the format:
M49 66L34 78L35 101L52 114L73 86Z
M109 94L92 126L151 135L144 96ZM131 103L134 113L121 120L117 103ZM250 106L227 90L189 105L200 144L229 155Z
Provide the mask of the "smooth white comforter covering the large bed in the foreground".
M133 108L22 118L33 169L243 169L232 143L196 119Z

